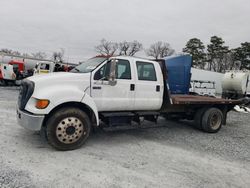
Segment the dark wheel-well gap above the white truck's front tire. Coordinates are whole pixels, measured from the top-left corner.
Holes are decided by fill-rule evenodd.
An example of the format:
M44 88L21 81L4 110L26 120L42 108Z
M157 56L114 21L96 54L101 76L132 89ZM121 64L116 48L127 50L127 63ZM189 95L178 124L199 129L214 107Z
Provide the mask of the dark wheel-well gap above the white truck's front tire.
M93 112L93 110L88 105L80 103L80 102L67 102L67 103L63 103L63 104L58 105L57 107L52 109L49 112L49 114L47 114L45 116L45 119L43 121L43 127L46 126L46 122L49 119L49 117L52 116L57 110L59 110L59 109L61 109L63 107L76 107L76 108L81 109L82 111L84 111L88 115L92 125L97 126L96 125L97 120L96 120L96 117L95 117L95 113Z

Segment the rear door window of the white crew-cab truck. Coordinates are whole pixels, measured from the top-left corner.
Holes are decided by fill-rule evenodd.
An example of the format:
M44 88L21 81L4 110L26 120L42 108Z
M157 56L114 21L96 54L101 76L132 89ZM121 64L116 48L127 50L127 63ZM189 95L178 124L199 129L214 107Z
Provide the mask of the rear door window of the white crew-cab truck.
M138 80L156 81L155 67L153 63L136 62Z

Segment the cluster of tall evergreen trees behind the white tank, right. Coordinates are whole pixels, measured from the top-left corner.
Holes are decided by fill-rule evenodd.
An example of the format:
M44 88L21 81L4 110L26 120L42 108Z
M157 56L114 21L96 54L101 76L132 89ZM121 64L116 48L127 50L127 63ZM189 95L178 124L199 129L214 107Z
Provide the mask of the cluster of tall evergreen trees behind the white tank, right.
M207 51L198 38L190 39L183 52L193 57L193 66L216 72L226 70L250 70L250 42L244 42L240 47L229 49L221 37L212 36Z

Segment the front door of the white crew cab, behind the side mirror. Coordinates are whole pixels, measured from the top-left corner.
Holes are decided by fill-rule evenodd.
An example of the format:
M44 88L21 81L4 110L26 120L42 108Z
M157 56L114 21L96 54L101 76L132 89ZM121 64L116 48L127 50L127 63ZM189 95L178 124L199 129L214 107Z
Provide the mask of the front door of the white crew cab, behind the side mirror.
M128 111L134 109L135 79L131 62L116 59L115 80L110 82L111 61L93 71L91 97L98 111Z

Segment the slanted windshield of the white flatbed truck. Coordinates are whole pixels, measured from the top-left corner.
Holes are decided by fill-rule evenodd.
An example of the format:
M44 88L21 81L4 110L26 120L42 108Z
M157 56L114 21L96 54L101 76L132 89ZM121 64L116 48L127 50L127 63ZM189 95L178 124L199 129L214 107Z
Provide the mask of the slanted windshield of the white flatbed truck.
M76 73L91 72L92 70L94 70L98 65L100 65L105 60L107 60L107 58L105 58L105 57L94 57L94 58L88 59L87 61L83 62L82 64L76 66L70 72L76 72Z

